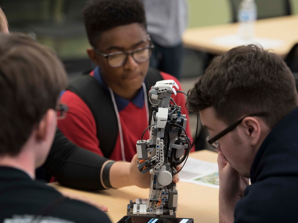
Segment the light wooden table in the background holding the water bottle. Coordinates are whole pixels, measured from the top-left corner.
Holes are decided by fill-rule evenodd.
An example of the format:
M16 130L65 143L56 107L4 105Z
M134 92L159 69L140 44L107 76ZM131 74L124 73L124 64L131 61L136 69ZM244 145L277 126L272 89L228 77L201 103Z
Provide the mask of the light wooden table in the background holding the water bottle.
M220 45L213 38L237 34L238 23L205 26L187 29L183 34L184 47L210 54L222 54L234 46ZM275 53L285 57L295 43L298 43L298 15L260 19L255 23L255 36L283 40L283 45L272 48Z

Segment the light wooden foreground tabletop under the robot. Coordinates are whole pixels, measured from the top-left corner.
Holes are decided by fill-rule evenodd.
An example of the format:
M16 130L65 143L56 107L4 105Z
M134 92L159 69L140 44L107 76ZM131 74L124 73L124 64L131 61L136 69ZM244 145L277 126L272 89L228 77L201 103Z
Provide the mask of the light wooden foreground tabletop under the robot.
M194 152L190 156L215 163L217 159L217 153L208 150ZM113 223L126 215L129 200L147 199L149 194L149 189L141 189L136 186L90 192L66 188L57 182L49 185L61 191L79 194L107 206L108 212L106 213ZM193 218L195 223L218 222L218 189L179 182L177 190L179 198L176 217Z

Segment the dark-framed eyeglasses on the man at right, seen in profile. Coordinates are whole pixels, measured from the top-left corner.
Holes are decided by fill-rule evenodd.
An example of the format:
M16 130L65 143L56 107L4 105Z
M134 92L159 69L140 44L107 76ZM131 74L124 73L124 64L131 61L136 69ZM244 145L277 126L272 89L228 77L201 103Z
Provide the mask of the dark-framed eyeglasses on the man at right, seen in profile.
M228 126L226 129L224 129L223 131L221 131L220 133L218 133L214 137L207 136L206 142L209 145L211 145L214 149L217 149L218 146L219 146L218 139L220 139L221 137L223 137L224 135L228 134L230 131L232 131L233 129L235 129L237 127L237 125L239 125L243 121L244 118L249 117L249 116L267 116L267 115L268 115L267 112L259 112L259 113L254 113L254 114L246 115L243 118L241 118L240 120L238 120L237 122L235 122L234 124Z

